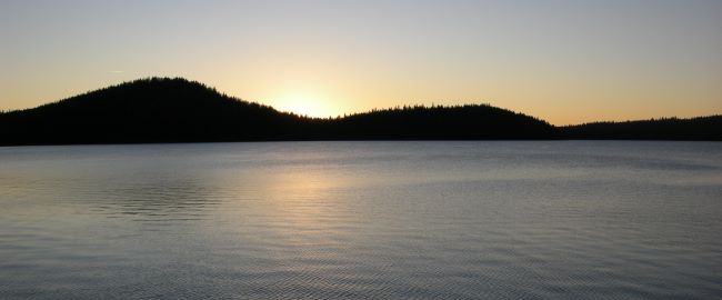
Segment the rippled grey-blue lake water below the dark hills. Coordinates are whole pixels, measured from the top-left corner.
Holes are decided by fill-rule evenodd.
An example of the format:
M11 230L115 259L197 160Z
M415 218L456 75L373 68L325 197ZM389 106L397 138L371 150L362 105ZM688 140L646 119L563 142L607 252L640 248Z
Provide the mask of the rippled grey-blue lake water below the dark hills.
M722 143L0 148L1 299L720 299Z

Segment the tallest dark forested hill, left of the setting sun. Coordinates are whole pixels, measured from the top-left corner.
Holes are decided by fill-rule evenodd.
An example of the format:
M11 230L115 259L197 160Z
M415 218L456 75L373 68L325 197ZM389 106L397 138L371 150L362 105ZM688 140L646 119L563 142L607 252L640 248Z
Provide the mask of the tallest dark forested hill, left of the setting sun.
M255 140L299 119L184 79L143 79L0 114L0 143Z

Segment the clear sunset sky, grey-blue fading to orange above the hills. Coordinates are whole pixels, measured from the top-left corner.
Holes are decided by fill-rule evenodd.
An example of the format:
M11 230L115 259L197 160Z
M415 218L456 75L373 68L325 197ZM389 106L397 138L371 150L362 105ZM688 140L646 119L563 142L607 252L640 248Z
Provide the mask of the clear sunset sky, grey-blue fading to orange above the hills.
M2 0L0 110L183 77L312 117L722 113L722 0Z

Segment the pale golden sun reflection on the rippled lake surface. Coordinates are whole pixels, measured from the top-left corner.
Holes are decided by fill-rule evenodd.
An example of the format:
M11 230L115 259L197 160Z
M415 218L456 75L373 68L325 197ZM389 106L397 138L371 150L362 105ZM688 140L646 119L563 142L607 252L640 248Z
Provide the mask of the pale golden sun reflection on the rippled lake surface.
M285 158L294 162L314 157ZM352 219L348 203L339 193L348 188L350 178L343 172L308 163L269 166L263 170L235 173L224 184L238 190L238 201L229 201L227 211L239 226L263 223L268 238L284 239L301 244L325 243L333 224ZM312 164L312 163L311 163ZM244 191L263 194L262 198L244 198ZM242 216L242 217L241 217ZM240 217L240 218L239 218Z

